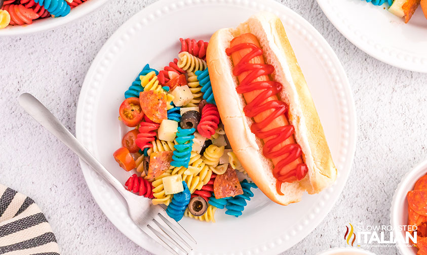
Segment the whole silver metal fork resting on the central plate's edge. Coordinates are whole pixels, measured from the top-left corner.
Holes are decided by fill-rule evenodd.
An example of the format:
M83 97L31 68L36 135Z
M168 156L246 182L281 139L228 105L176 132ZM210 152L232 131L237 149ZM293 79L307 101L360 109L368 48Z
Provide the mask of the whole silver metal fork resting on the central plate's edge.
M192 250L191 243L185 241L182 235L193 245L197 243L196 240L170 218L165 209L152 205L148 198L127 191L40 101L31 94L24 93L19 96L18 102L29 115L74 151L125 198L129 216L145 234L173 254L179 255L178 252L188 254Z

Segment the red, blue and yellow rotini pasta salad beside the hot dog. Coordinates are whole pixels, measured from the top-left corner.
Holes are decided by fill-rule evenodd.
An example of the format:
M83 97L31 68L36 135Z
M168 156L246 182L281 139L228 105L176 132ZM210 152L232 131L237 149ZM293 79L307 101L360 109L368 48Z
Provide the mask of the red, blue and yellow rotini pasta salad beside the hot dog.
M146 64L124 93L119 119L132 128L113 153L130 192L167 206L168 215L215 222L215 210L239 217L257 186L231 150L212 93L208 42L180 38L162 70Z

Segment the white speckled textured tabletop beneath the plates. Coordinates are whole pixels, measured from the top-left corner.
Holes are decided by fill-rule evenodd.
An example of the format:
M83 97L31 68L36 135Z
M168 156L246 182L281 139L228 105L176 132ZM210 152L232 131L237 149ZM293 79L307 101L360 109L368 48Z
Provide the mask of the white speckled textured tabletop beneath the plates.
M102 214L76 156L17 105L30 92L74 132L75 108L91 61L127 18L151 1L110 2L80 21L40 34L0 40L0 182L44 210L64 254L145 254ZM358 146L350 179L327 218L284 254L344 246L345 224L389 224L401 177L424 159L427 75L383 64L349 43L315 2L283 1L312 23L335 50L353 85ZM285 216L284 216L285 217ZM396 248L368 248L397 254Z

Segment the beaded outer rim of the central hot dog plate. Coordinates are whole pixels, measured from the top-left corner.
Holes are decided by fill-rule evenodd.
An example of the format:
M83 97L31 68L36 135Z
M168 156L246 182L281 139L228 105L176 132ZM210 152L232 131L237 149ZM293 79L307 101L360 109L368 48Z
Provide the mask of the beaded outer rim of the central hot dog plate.
M86 102L84 102L84 98L87 97L86 94L89 91L89 86L92 86L92 87L94 86L93 83L91 85L91 83L89 83L89 82L95 76L97 68L99 68L99 66L103 64L101 62L104 60L105 56L108 54L108 50L113 46L114 43L117 43L117 41L121 41L123 44L123 39L120 39L120 37L128 35L128 34L126 34L125 31L129 31L129 30L133 29L133 27L132 27L132 25L134 25L133 23L137 23L134 21L138 20L138 16L142 16L142 14L141 14L142 12L148 12L146 10L153 11L153 12L151 12L151 13L153 13L152 16L144 18L145 22L148 22L148 20L156 19L157 15L161 16L161 10L163 10L162 7L164 7L166 4L173 4L173 3L177 3L177 2L172 1L172 0L161 0L161 1L155 2L151 5L143 8L141 11L139 11L134 16L132 16L130 19L128 19L125 23L123 23L122 26L119 27L110 36L110 38L105 42L105 44L102 46L101 50L96 55L94 61L91 64L91 67L89 68L88 73L86 74L86 77L85 77L85 80L84 80L84 83L82 86L82 90L81 90L81 93L79 96L79 103L77 104L76 136L77 136L77 139L79 141L81 141L83 144L86 145L86 140L83 137L83 135L84 135L84 119L85 119L84 108L86 107ZM178 3L184 3L184 1L180 1ZM279 14L278 11L273 11L273 9L271 9L271 8L269 8L269 9L271 10L271 12L277 14L278 16L283 16L286 14L286 16L291 16L292 19L297 19L298 20L297 23L304 24L304 26L306 26L310 30L310 36L313 35L313 37L315 37L315 39L320 42L321 46L323 47L321 49L328 51L329 55L326 53L324 53L323 55L326 56L326 58L329 58L329 57L331 58L330 62L333 63L331 65L333 65L333 67L335 67L334 70L338 73L338 74L336 74L336 77L338 79L341 79L340 90L346 92L346 93L342 93L343 94L342 98L345 98L344 103L348 104L348 105L346 105L347 110L348 110L346 113L346 116L347 116L347 122L349 124L347 125L346 129L349 130L348 133L351 133L351 134L350 135L347 134L348 135L348 137L347 137L348 141L347 141L347 145L345 146L345 157L342 156L342 158L344 158L345 162L343 162L342 167L340 167L340 169L346 169L344 174L341 173L341 175L343 175L342 178L343 178L344 182L339 184L339 186L338 186L339 193L338 193L338 195L334 196L333 198L330 197L330 194L337 193L337 192L333 192L334 188L337 186L336 183L332 187L328 188L327 190L325 190L321 193L324 195L322 195L320 200L323 201L323 197L327 197L326 199L328 200L327 201L328 203L325 205L325 202L323 202L323 205L322 205L322 207L327 206L327 210L324 210L325 212L323 212L323 211L319 212L319 214L317 215L319 217L315 217L314 219L311 220L310 223L313 223L312 225L304 224L304 230L299 229L300 227L302 228L302 224L299 226L295 226L295 228L292 227L292 229L295 229L295 230L291 231L292 233L290 235L292 235L292 236L300 235L300 233L304 232L300 238L298 237L296 241L295 240L290 241L289 238L292 238L292 237L289 237L290 235L286 235L286 238L285 238L285 235L284 235L283 237L278 238L278 240L280 239L280 242L278 242L278 241L274 242L273 240L270 242L271 244L274 244L274 248L270 248L269 252L276 252L276 251L282 252L282 251L292 247L297 242L301 241L303 238L305 238L309 233L311 233L323 221L323 219L329 214L329 212L332 210L332 207L335 205L337 199L339 198L339 196L340 196L340 194L341 194L341 192L342 192L342 190L346 184L346 181L348 179L348 175L350 175L350 171L352 169L352 165L353 165L353 161L354 161L354 155L355 155L355 151L356 151L356 140L357 140L357 120L356 120L357 115L356 115L356 110L355 110L356 107L355 107L355 101L353 98L353 91L351 90L350 82L348 81L348 78L346 76L344 68L342 67L342 64L340 63L338 57L336 56L336 54L332 50L331 46L327 43L326 39L319 33L319 31L317 31L316 28L313 27L313 25L311 25L308 21L306 21L300 15L298 15L297 13L295 13L294 11L292 11L291 9L289 9L288 7L286 7L280 3L277 3L273 0L268 0L268 1L265 1L265 0L227 0L226 2L224 0L186 0L185 4L188 4L188 3L199 4L199 5L204 5L204 4L221 4L221 5L230 4L231 8L232 8L232 4L242 5L242 3L246 4L248 7L253 6L254 4L255 4L255 6L257 6L257 5L264 6L266 3L269 3L268 5L271 5L271 6L280 6L280 8L282 8L283 10L286 10L284 12L281 12L281 14ZM179 4L177 6L179 6ZM154 8L157 8L157 7L159 7L160 13L155 12L156 9L154 9ZM194 7L194 5L192 7ZM282 22L283 22L283 19L282 19ZM140 23L140 25L141 25L141 23ZM337 86L335 86L335 87L337 87ZM335 88L334 88L334 91L336 91L337 93L340 92L339 90L337 90ZM86 125L86 128L90 129L90 126ZM91 145L88 144L87 146L88 146L89 151L92 151L90 148ZM340 146L340 148L341 147L342 146ZM86 181L86 183L89 187L89 190L91 191L91 194L94 197L96 203L99 205L101 210L107 216L108 220L110 222L112 222L115 227L117 227L129 239L136 242L130 234L123 232L119 228L119 226L113 222L111 217L109 217L110 214L112 215L111 211L108 211L107 208L103 208L101 206L101 204L103 203L103 201L101 202L102 199L100 199L99 194L97 194L97 191L95 190L95 188L92 185L90 185L92 183L92 180L90 180L89 174L90 174L90 172L93 172L93 171L89 170L89 167L83 162L83 160L80 160L80 162L81 162L81 166L82 166L82 172L83 172L84 177L85 177L85 181ZM308 221L306 221L306 222L308 222ZM277 243L279 243L279 245L277 245ZM288 244L286 244L286 243L288 243ZM289 245L289 243L291 243L291 244ZM259 246L262 246L263 248L265 247L265 249L267 249L268 245L265 245L265 243L260 243ZM280 247L283 246L284 249L279 250L278 249L279 246ZM143 248L150 251L150 252L154 252L154 250L155 250L152 246L144 246ZM263 248L261 248L263 250L262 252L267 251L267 250L264 250ZM198 254L202 254L202 253L198 253Z

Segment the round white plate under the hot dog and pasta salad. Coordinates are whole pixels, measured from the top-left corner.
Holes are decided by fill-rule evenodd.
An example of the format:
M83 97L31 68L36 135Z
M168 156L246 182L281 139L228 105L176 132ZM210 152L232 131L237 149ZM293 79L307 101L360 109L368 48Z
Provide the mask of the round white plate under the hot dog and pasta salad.
M163 0L137 13L105 43L86 75L77 107L77 138L122 183L126 173L112 153L127 129L118 120L124 92L149 63L162 68L179 51L179 37L208 40L223 27L235 27L259 11L276 13L284 22L322 120L338 168L336 184L302 202L280 206L259 190L239 218L217 210L216 223L183 219L180 223L198 246L192 254L277 254L303 239L328 214L350 172L356 144L356 114L347 77L325 39L285 6L265 0ZM81 161L88 186L110 221L145 249L164 250L131 222L118 195Z

